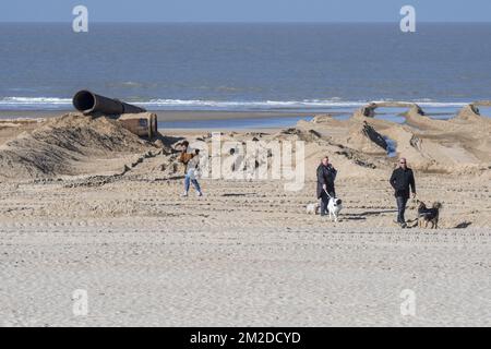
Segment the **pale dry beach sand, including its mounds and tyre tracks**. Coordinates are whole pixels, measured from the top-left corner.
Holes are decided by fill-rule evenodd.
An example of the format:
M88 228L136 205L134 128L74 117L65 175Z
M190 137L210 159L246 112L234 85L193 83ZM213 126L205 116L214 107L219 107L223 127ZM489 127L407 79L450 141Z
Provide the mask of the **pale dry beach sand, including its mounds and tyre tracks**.
M203 179L200 198L180 197L182 169L167 145L206 132L148 143L76 115L22 125L0 139L0 325L490 326L489 124L459 120L423 130L320 116L224 134L306 141L306 185ZM74 125L83 137L67 139ZM370 141L376 134L408 154L419 197L443 203L442 229L392 224L395 159ZM39 149L63 166L39 166ZM337 224L306 214L326 153L345 204ZM88 292L86 316L72 312L76 289ZM415 316L400 313L405 289Z

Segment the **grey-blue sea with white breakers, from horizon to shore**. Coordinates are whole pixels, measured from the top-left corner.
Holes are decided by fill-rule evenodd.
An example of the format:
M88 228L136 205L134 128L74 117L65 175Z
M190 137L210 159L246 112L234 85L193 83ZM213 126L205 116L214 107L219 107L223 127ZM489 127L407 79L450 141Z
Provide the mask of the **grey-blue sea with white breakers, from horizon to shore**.
M490 38L490 23L0 23L0 110L67 110L89 89L148 110L405 100L446 118L491 99Z

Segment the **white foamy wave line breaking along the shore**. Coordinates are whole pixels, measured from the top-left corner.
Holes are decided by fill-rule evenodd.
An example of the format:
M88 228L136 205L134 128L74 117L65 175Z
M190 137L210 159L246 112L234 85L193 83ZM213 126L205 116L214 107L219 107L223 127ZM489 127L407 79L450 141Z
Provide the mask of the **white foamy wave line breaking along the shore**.
M378 101L394 101L379 99ZM412 100L422 108L459 108L466 103L436 101L431 99ZM129 103L151 110L336 110L355 109L367 105L366 100L303 99L303 100L202 100L202 99L149 99L129 100ZM0 98L0 109L71 109L71 98L57 97L4 97Z

